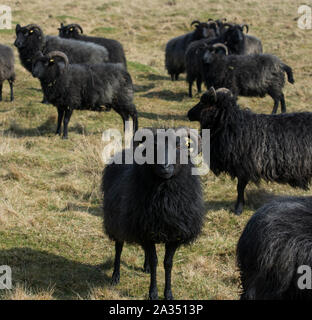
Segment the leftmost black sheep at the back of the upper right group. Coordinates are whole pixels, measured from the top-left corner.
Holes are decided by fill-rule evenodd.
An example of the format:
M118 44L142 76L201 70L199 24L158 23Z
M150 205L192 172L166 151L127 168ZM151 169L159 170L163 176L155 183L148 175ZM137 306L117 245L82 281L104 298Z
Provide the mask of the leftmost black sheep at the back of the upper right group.
M185 72L184 54L188 45L202 38L211 38L216 35L217 25L215 22L200 22L195 20L191 26L195 30L182 36L171 39L166 45L165 65L171 80L178 80L179 74Z

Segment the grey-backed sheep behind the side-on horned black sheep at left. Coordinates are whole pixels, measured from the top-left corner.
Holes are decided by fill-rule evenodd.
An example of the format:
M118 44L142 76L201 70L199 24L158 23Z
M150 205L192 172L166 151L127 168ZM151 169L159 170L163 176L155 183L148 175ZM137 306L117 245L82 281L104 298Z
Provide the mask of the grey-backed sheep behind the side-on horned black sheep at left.
M38 52L45 54L50 51L62 51L67 55L70 63L96 64L108 61L108 51L104 47L94 43L45 36L36 24L25 27L17 24L15 31L14 45L18 48L22 65L29 72L32 72L33 59ZM47 102L46 97L43 102Z

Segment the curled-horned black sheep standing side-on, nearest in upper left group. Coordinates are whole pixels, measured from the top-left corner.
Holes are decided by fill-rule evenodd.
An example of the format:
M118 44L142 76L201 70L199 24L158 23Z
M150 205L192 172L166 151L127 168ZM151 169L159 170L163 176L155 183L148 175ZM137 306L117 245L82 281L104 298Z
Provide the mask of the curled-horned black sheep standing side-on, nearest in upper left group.
M133 120L138 128L137 111L133 104L133 84L130 74L121 64L69 64L65 53L52 51L40 54L34 61L34 77L39 78L48 101L57 107L56 134L68 138L68 123L74 109L103 111L113 108L125 122Z

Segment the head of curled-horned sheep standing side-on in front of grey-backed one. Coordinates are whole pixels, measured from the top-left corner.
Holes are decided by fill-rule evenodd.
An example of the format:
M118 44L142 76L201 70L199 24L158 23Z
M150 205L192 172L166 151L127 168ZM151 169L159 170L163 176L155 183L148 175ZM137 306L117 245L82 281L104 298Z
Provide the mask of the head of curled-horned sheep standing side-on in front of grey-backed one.
M56 79L64 70L65 63L59 57L41 56L33 64L32 75L38 79Z

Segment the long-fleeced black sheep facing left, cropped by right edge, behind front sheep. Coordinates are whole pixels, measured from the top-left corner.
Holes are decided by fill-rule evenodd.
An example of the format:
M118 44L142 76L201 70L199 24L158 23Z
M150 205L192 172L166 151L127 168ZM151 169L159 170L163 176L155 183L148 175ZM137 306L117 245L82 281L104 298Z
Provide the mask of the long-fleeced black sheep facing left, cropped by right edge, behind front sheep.
M312 113L255 114L241 109L226 88L210 88L188 112L210 129L210 169L237 178L235 214L244 206L249 181L307 190L312 178ZM208 161L208 160L206 160Z

